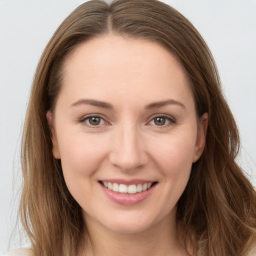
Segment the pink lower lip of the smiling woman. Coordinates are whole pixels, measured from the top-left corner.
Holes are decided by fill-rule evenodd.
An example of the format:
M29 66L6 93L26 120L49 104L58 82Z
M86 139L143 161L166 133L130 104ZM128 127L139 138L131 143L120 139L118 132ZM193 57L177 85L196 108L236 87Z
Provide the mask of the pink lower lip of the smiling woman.
M135 194L128 194L128 193L126 194L126 193L115 192L113 190L110 190L104 187L101 184L100 186L109 199L111 199L112 201L118 204L122 204L125 206L131 206L131 205L140 203L141 201L143 201L144 199L150 196L150 194L152 193L155 187L155 185L153 185L145 191L137 192Z

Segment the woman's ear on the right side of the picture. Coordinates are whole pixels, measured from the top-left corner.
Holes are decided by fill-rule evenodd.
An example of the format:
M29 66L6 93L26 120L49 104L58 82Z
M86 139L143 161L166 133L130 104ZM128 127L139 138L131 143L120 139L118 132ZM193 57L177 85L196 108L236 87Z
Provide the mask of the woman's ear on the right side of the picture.
M206 132L208 126L208 113L204 113L200 117L197 129L196 143L194 148L193 162L196 162L202 154L205 146Z

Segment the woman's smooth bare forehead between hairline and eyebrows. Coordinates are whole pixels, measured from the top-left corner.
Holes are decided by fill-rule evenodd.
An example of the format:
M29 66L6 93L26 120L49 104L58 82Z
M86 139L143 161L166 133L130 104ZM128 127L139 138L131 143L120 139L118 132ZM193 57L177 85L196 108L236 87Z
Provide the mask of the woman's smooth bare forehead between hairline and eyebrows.
M144 39L92 38L71 52L63 71L62 91L70 97L84 93L103 100L109 92L113 93L109 100L123 93L155 101L172 95L191 97L189 80L176 57L159 43Z

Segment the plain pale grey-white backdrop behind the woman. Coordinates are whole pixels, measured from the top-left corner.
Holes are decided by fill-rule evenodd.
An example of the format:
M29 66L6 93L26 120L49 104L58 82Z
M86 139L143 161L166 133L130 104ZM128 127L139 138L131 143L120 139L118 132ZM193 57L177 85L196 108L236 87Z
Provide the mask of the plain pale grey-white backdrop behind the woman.
M54 30L82 2L0 0L0 253L7 250L16 222L20 135L33 73ZM184 14L209 45L240 129L238 162L256 184L256 1L165 2ZM15 233L10 248L19 246Z

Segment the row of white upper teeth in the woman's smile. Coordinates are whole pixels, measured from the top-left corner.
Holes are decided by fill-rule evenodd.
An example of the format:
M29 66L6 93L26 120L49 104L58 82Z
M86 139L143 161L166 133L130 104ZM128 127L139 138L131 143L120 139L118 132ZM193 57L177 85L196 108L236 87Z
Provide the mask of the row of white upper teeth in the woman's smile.
M125 185L125 184L117 184L117 183L102 181L102 184L109 190L113 190L115 192L135 194L137 192L141 192L149 189L152 185L152 182L137 184L137 185L135 184Z

